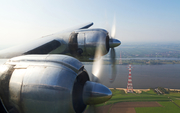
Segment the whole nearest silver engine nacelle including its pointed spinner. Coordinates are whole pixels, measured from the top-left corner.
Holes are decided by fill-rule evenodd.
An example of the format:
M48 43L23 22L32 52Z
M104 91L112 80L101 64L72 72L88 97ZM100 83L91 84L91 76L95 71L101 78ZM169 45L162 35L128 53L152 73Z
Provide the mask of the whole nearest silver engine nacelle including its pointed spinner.
M70 56L25 55L0 66L0 99L10 113L82 113L111 96Z

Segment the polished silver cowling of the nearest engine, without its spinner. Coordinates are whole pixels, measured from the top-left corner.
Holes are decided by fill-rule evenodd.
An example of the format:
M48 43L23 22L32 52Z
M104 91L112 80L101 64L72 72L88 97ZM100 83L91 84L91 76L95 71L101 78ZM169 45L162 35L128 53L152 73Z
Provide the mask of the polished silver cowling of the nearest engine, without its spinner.
M75 113L73 86L83 71L82 63L75 58L64 55L20 56L8 60L0 69L0 83L7 83L0 87L6 107L12 106L19 113ZM12 72L9 80L4 78L8 71ZM7 92L3 92L4 87Z

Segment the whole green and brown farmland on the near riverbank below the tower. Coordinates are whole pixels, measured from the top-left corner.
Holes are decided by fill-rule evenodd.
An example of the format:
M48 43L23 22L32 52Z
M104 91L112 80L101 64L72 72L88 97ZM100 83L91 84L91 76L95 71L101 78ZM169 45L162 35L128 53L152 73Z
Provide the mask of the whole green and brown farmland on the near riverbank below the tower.
M180 112L180 92L169 91L158 94L153 89L141 93L125 93L124 90L111 89L112 98L96 105L102 113L177 113ZM85 111L88 113L88 109Z

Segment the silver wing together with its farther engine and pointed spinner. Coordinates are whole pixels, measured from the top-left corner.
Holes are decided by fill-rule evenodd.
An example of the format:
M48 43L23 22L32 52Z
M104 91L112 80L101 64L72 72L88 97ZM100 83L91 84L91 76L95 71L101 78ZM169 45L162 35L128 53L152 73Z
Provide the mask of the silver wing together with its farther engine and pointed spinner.
M33 41L23 43L0 51L0 58L12 58L29 54L64 54L80 61L91 62L97 46L101 47L102 55L109 52L110 47L116 47L120 41L109 39L104 29L87 29L93 23L81 27L43 36ZM74 35L72 35L74 34ZM74 36L74 37L72 37Z

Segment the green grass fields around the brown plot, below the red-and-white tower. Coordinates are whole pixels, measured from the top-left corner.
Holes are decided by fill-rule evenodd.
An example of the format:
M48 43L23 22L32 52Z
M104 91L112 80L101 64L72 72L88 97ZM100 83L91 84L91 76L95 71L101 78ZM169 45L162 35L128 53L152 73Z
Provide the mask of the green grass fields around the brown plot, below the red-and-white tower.
M97 106L115 104L119 102L148 102L156 101L162 107L138 107L136 113L180 113L180 93L170 92L169 94L159 95L153 89L140 94L125 93L123 90L111 89L113 96L106 103Z

